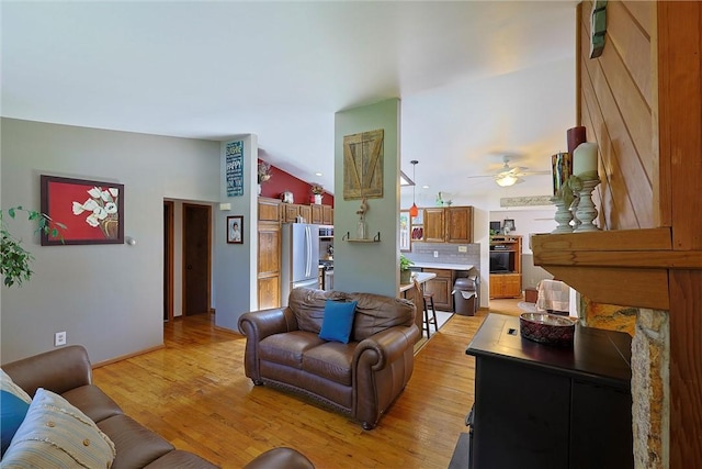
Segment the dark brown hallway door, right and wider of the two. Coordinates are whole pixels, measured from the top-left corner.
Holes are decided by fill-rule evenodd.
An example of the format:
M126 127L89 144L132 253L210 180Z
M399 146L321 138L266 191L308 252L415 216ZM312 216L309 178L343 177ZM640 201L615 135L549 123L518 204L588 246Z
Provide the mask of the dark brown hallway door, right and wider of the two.
M210 313L212 208L183 203L183 315Z

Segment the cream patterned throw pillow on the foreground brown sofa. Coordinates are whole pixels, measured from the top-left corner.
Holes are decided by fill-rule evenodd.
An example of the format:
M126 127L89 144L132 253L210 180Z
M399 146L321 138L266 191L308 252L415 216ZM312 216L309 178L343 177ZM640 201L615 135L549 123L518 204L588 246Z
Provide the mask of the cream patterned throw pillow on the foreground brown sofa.
M2 465L109 468L114 458L114 444L86 414L39 388Z

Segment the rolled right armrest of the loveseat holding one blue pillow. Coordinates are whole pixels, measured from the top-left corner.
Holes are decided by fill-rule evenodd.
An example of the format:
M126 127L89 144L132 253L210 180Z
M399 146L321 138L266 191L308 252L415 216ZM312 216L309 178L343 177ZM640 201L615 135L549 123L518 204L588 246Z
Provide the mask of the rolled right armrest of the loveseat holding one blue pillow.
M355 348L354 367L358 367L362 361L374 371L381 370L401 358L407 348L414 350L418 337L419 330L414 324L409 327L394 326L373 334L361 340Z

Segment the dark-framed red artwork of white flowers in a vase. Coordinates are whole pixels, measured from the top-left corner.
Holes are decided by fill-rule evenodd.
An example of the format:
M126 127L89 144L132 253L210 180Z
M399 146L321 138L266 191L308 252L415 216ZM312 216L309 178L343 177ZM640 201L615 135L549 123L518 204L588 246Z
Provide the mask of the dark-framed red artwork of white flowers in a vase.
M124 185L45 175L41 185L42 213L66 225L42 233L42 246L124 243Z

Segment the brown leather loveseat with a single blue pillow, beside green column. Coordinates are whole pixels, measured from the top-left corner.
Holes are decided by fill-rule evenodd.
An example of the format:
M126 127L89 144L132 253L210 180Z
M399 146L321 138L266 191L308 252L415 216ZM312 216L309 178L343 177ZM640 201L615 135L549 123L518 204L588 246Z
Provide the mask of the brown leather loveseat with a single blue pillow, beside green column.
M319 337L327 300L358 302L349 343ZM294 289L288 305L239 319L254 384L302 393L373 428L405 389L419 337L415 305L373 293Z

